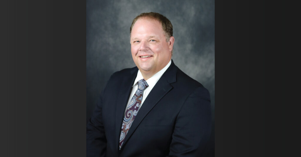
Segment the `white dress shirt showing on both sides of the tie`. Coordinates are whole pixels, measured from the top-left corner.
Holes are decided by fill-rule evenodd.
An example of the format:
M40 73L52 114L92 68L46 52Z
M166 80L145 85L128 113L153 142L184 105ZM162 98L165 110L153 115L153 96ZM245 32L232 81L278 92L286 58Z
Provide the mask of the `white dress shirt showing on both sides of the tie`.
M163 73L167 70L167 68L170 66L171 64L171 59L169 60L169 62L167 63L167 65L161 69L160 71L158 71L156 74L154 74L152 77L150 77L149 79L146 80L147 84L148 84L148 87L146 87L144 90L143 90L143 96L142 96L142 101L141 101L141 105L139 107L139 110L144 102L144 100L146 99L147 95L151 92L151 90L153 89L153 87L156 85L156 83L158 82L158 80L161 78L161 76L163 75ZM127 105L129 104L129 102L131 101L131 99L133 98L136 90L138 89L138 84L137 82L139 80L143 79L143 76L140 72L140 70L138 70L138 73L137 73L137 77L134 81L134 84L132 86L132 92L129 96L129 99L128 99L128 103ZM126 110L125 110L126 112ZM125 113L124 112L124 113Z

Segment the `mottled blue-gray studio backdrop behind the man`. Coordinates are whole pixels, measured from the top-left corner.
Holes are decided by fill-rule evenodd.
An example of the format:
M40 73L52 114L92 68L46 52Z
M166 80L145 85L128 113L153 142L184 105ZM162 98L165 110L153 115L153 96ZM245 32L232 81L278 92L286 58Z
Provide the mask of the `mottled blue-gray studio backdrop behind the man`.
M87 120L110 75L135 66L129 42L132 20L143 12L158 12L173 25L175 65L210 92L214 126L214 0L86 2Z

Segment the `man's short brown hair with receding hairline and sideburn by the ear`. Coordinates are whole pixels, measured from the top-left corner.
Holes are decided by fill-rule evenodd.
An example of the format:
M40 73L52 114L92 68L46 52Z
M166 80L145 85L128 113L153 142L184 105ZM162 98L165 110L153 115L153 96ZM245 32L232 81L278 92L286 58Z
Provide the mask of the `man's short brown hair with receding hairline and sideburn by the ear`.
M165 32L166 42L169 41L169 38L172 36L172 24L171 24L171 22L165 16L163 16L163 15L161 15L159 13L154 13L154 12L141 13L140 15L138 15L137 17L135 17L135 19L132 22L132 26L130 28L130 35L132 33L132 28L133 28L134 24L141 17L146 17L146 18L150 18L152 20L159 21L162 24L163 31Z

